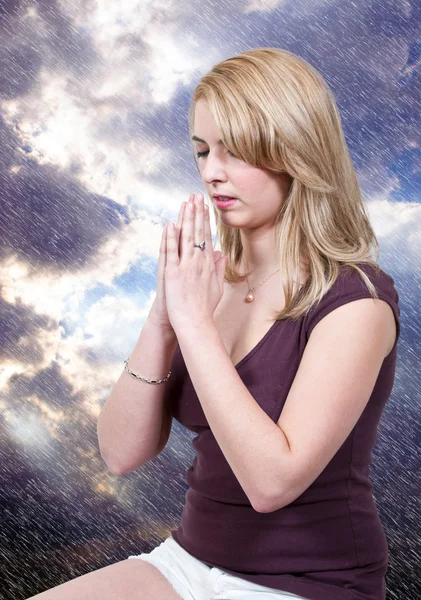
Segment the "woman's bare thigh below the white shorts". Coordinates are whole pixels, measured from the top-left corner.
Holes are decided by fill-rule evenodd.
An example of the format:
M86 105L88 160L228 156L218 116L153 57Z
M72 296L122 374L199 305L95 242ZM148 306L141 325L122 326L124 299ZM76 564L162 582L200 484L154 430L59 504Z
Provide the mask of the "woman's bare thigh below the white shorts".
M168 579L142 560L121 560L27 600L180 600Z

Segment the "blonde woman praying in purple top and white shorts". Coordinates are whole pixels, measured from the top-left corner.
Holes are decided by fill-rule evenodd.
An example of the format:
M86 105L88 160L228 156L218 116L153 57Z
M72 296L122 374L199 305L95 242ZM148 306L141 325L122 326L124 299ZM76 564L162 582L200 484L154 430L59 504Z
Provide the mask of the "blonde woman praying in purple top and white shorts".
M141 560L34 598L384 600L369 464L399 297L335 100L302 58L257 48L201 79L190 133L222 256L191 197L98 421L118 474L162 451L173 417L197 433L181 524Z

